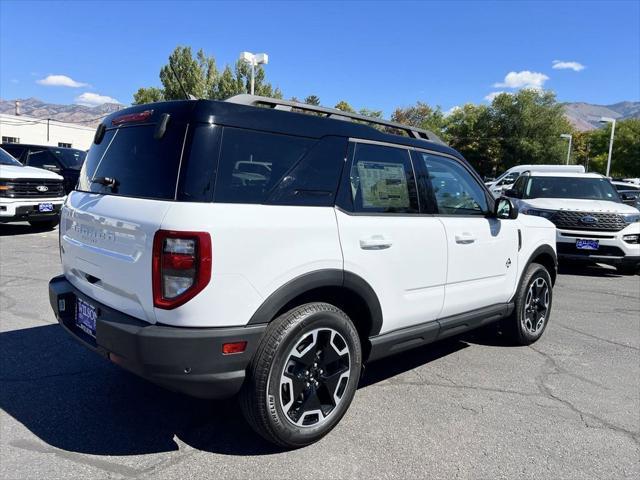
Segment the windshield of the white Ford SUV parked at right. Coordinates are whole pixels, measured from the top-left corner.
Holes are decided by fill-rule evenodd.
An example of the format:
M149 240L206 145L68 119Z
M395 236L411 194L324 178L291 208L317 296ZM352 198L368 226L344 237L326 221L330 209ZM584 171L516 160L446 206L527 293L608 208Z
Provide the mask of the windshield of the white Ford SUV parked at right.
M618 192L606 178L530 177L523 198L577 198L620 203Z

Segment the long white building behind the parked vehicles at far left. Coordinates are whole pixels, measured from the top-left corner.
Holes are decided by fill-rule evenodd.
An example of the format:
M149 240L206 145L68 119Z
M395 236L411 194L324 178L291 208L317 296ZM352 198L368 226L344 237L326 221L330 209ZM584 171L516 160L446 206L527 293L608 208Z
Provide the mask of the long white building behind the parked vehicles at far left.
M0 114L2 143L28 143L88 150L95 127L26 115Z

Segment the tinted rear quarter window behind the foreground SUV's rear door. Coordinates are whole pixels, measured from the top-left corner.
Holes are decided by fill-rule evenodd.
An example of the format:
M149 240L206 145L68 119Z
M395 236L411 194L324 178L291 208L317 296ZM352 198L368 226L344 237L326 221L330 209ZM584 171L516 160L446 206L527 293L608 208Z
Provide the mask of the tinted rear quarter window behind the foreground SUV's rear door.
M316 141L225 127L214 199L263 203L271 189Z

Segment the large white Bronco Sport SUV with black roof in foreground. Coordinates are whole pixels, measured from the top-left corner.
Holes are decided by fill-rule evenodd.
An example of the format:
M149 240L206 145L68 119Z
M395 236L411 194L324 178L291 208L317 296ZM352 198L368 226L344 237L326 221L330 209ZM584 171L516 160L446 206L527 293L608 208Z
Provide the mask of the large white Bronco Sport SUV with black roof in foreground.
M50 300L112 362L239 393L257 432L302 446L364 362L494 321L540 338L555 228L516 217L427 131L247 95L135 106L98 127Z

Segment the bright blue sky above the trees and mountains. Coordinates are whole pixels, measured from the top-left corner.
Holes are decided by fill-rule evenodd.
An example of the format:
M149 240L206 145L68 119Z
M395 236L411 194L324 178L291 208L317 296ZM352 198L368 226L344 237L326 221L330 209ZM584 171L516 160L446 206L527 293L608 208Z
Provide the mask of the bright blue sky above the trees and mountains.
M243 50L267 52L268 79L286 97L386 114L417 100L448 110L522 86L552 89L561 101L640 99L638 0L2 0L0 97L128 104L139 87L160 86L177 45L203 48L219 67ZM77 86L38 83L49 75Z

